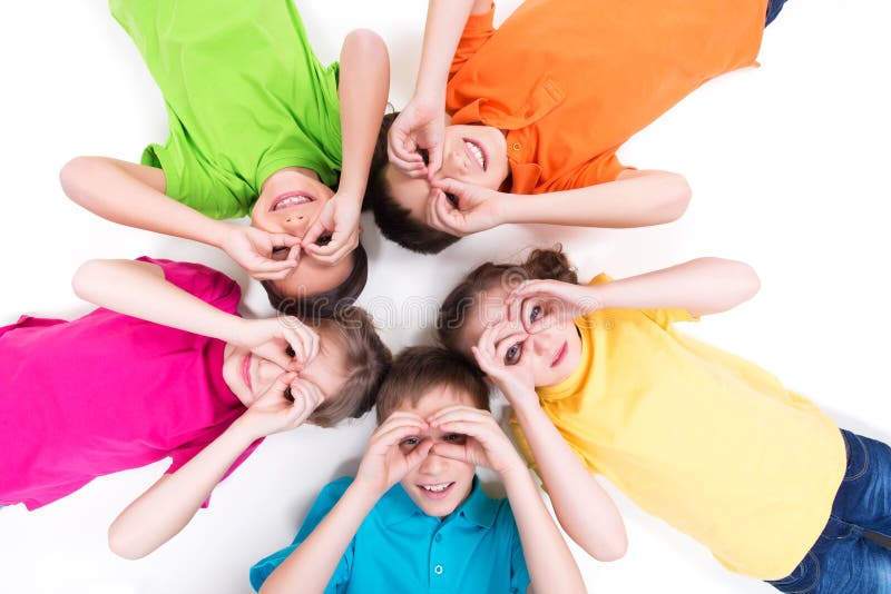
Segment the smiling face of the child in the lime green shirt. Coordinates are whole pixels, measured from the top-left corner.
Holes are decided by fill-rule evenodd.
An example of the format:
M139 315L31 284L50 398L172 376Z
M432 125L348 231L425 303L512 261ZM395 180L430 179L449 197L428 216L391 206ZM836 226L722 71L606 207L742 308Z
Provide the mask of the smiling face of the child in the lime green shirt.
M251 225L271 234L286 234L303 239L334 192L319 181L319 176L302 167L275 171L263 182L251 212ZM273 251L272 259L285 259L287 249ZM287 297L319 295L340 286L353 270L352 257L327 265L303 254L291 275L273 280L276 290Z

